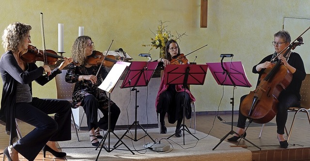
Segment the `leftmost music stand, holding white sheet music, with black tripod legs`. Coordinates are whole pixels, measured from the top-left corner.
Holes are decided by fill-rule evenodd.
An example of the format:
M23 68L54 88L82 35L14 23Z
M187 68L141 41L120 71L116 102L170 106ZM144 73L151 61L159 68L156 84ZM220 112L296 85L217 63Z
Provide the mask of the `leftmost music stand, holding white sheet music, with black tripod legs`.
M107 130L106 134L104 135L104 137L101 139L99 145L96 147L96 150L97 150L101 144L101 147L100 147L100 150L98 152L96 161L98 161L98 158L99 158L99 155L100 155L102 148L104 148L109 153L118 147L118 146L114 146L114 148L110 148L110 133L112 133L118 139L118 142L122 142L122 144L124 144L124 146L126 146L125 143L110 129L110 120L111 120L111 118L110 118L111 117L110 116L110 101L111 101L111 93L112 93L114 87L116 86L117 82L120 80L121 76L123 75L125 69L127 69L129 65L130 65L129 62L117 61L116 64L113 65L112 69L110 70L110 72L107 75L107 77L105 78L105 80L103 80L102 84L98 87L102 90L109 92L109 108L108 108L109 112L108 112L108 130ZM108 147L105 147L104 143L105 143L107 138L108 138ZM128 146L126 146L126 147L132 154L135 154L132 150L130 150L130 148Z

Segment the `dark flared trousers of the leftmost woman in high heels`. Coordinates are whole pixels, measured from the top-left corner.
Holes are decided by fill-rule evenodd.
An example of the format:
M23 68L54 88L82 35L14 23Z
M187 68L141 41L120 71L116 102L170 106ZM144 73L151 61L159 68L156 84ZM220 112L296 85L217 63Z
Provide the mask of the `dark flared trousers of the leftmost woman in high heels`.
M48 114L55 114L54 119ZM13 144L29 161L47 141L71 140L71 103L66 100L33 98L30 103L16 103L16 118L35 127Z

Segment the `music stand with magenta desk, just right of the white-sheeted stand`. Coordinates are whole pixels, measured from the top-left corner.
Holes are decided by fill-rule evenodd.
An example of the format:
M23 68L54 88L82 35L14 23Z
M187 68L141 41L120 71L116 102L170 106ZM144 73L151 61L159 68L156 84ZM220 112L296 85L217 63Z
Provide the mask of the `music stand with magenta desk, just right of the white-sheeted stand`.
M144 128L140 125L139 121L137 121L137 110L139 105L137 105L137 93L139 90L137 90L136 87L145 87L148 86L150 79L155 72L155 69L157 67L158 62L152 61L152 62L146 62L146 61L133 61L131 65L128 68L127 75L123 81L123 84L121 88L130 88L131 91L136 91L136 105L135 105L135 121L129 126L127 131L123 134L121 137L121 140L124 138L124 136L127 136L127 132L130 131L133 127L135 128L135 138L131 138L127 136L128 138L132 139L133 141L138 141L145 136L149 136L152 141L155 143L155 140L144 130ZM140 139L137 139L137 127L140 127L144 132L145 135L142 136ZM115 146L119 143L119 141L115 144Z

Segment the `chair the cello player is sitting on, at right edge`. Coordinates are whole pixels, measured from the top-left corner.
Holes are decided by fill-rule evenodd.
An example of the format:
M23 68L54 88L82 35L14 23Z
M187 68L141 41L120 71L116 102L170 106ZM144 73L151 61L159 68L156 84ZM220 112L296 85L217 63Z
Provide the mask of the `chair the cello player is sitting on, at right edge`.
M309 111L310 111L310 74L306 75L305 80L301 84L300 95L301 95L300 107L290 107L288 109L289 112L295 112L295 114L294 114L294 118L293 118L292 125L290 128L290 132L288 133L286 128L285 128L285 131L287 134L287 142L289 142L289 140L290 140L290 137L291 137L291 134L293 131L293 127L294 127L294 123L295 123L295 119L296 119L296 115L298 112L306 113L308 120L309 120L309 124L310 124L310 115L309 115ZM264 127L264 124L263 124L263 127ZM262 136L263 127L262 127L259 138L261 138L261 136Z

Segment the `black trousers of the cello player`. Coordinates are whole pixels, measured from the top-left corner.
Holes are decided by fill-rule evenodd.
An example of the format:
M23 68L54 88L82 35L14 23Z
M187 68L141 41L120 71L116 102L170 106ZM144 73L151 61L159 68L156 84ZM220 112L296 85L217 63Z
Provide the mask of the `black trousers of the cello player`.
M241 102L247 97L244 95L240 98ZM299 106L298 98L294 94L283 94L279 97L279 104L278 104L278 113L276 115L276 122L277 122L277 133L284 134L285 123L287 120L288 115L288 108L293 106ZM243 116L240 112L239 106L239 117L238 117L238 124L237 127L244 129L246 127L247 117Z

